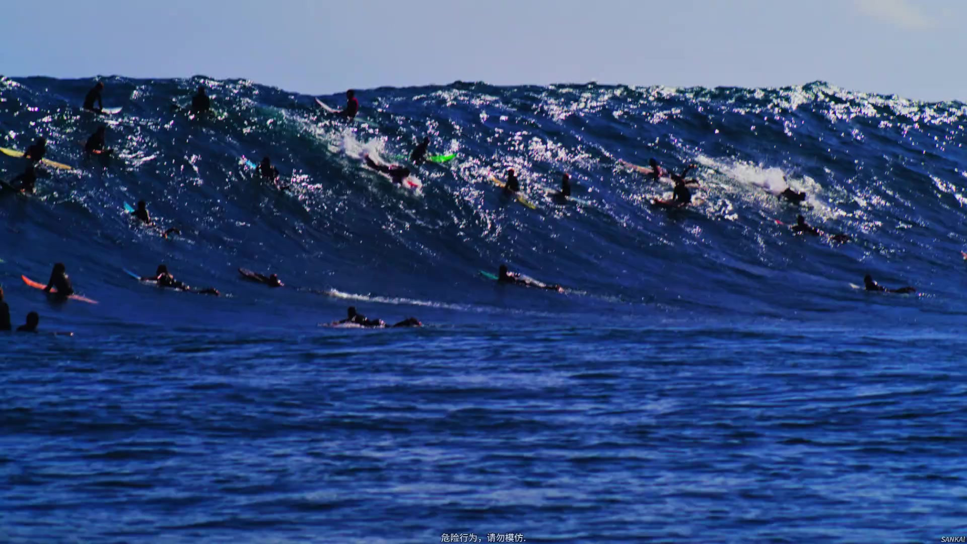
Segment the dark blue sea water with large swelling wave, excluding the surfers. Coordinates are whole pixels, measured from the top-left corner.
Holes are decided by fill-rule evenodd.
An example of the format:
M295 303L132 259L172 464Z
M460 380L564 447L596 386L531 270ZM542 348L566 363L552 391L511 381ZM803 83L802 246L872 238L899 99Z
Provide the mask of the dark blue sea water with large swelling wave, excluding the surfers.
M214 115L172 109L201 82ZM456 83L362 91L347 124L249 81L106 83L124 110L101 118L78 107L91 80L0 80L0 146L46 136L76 167L0 195L15 323L75 333L3 337L0 541L967 534L967 106ZM118 157L83 157L104 121ZM421 167L421 193L360 163L425 134L458 158ZM290 193L241 164L263 155ZM650 206L670 186L617 166L650 157L697 164L701 202ZM536 210L486 181L509 166ZM544 194L564 171L583 202ZM133 225L138 199L183 235ZM777 224L797 213L853 241ZM19 280L55 261L100 304ZM123 272L161 262L225 296ZM477 273L500 262L569 291ZM865 273L921 293L851 287ZM349 304L427 326L319 326Z

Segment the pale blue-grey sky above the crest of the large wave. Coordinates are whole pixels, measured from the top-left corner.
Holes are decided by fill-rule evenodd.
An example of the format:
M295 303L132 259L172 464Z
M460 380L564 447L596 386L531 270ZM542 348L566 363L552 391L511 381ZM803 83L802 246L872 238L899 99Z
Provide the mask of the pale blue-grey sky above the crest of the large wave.
M5 76L245 77L312 94L484 80L967 99L962 0L34 0Z

